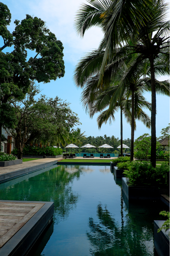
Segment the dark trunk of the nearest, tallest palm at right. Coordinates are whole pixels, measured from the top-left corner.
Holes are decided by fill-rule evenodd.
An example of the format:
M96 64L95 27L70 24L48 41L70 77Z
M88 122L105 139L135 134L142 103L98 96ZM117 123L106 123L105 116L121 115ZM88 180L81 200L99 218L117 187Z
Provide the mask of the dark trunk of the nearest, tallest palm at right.
M152 92L150 162L153 167L156 167L156 88L155 88L155 72L154 72L153 55L150 55L149 61L150 61L150 78L151 78L151 92Z

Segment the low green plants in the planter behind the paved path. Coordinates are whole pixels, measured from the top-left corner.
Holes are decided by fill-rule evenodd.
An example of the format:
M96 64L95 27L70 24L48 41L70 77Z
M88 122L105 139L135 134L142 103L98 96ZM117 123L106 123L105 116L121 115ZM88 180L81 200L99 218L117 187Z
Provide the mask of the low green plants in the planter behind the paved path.
M18 150L17 148L15 148L12 151L12 154L17 155L18 154ZM25 146L23 148L23 155L25 156L58 156L58 155L62 155L63 154L63 150L61 148L53 148L53 147L30 147L30 146Z

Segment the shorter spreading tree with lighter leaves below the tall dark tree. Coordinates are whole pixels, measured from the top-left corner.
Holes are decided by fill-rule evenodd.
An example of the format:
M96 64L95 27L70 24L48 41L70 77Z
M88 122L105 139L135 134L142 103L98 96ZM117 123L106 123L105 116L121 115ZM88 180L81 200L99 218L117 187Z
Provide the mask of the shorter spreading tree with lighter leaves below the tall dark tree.
M17 125L9 129L9 133L16 141L18 159L22 158L25 144L31 141L52 144L67 127L79 124L78 115L72 112L69 103L58 97L48 99L44 95L35 100L39 92L39 88L32 83L24 100L13 103Z

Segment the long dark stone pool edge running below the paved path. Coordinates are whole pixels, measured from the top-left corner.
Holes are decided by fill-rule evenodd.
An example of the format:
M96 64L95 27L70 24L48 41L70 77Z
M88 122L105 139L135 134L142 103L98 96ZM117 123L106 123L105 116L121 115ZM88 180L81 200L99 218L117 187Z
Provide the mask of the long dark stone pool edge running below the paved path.
M15 178L27 175L28 173L36 172L36 171L39 171L39 170L44 169L46 167L53 166L53 165L57 164L57 161L58 160L54 160L53 162L47 162L47 163L44 163L44 164L29 166L27 168L23 168L23 169L20 169L20 170L15 170L15 171L12 171L12 172L1 174L0 175L0 184L3 183L3 182L6 182L8 180L15 179Z

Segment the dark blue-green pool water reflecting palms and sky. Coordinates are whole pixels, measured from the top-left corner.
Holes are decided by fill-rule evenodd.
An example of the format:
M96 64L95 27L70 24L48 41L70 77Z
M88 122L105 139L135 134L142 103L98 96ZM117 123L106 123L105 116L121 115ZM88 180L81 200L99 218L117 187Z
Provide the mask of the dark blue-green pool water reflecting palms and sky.
M149 256L162 202L125 204L110 166L57 165L0 185L1 200L54 201L29 256Z

